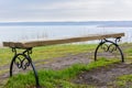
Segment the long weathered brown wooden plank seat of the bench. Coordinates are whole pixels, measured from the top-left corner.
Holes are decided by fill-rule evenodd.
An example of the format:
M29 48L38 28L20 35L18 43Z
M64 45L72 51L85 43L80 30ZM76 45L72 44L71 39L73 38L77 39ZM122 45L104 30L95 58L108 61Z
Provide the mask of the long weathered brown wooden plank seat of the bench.
M29 47L36 47L36 46L54 45L54 44L85 42L85 41L92 41L92 40L103 40L103 38L109 38L109 37L116 38L116 37L121 37L121 36L124 36L124 33L97 34L97 35L80 36L80 37L61 38L61 40L44 40L44 41L29 41L29 42L3 42L3 46L29 48Z

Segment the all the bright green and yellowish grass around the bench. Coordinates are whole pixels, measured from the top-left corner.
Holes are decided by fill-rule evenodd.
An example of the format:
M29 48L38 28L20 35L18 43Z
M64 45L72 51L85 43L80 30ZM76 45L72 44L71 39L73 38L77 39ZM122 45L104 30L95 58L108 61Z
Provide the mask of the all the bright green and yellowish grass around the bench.
M132 61L132 45L131 44L122 44L122 46L129 46L129 48L125 48L123 51L125 55L125 59L129 59L129 62ZM75 55L79 53L87 53L87 52L94 52L96 48L96 44L64 44L64 45L53 45L53 46L42 46L42 47L35 47L33 48L33 54L31 55L33 58L33 62L42 61L42 59L51 59L55 57L62 57L67 55ZM0 48L0 67L7 66L10 64L11 58L13 56L13 53L10 48ZM76 64L73 65L69 68L62 69L62 70L52 70L52 69L45 69L45 70L38 70L38 77L41 86L46 88L94 88L94 86L88 85L78 85L70 82L70 79L76 77L77 74L84 72L84 70L90 70L92 68L99 67L99 66L106 66L109 64L114 63L116 61L106 61L100 59L95 63L90 63L89 65L82 65L82 64ZM0 70L0 74L7 73L9 69L2 69ZM125 80L129 79L129 77L124 77ZM131 77L130 77L131 78ZM123 79L117 80L117 85L125 85L123 82ZM35 86L35 80L33 73L28 74L19 74L16 76L13 76L9 79L4 88L32 88Z

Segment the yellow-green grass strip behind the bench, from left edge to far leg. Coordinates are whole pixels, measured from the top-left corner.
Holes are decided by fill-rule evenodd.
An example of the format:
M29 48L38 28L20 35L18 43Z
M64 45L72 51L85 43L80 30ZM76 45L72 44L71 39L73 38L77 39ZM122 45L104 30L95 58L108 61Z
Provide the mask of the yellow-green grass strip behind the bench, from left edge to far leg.
M31 55L33 61L48 59L54 57L62 57L66 55L79 54L92 51L96 44L63 44L34 47ZM18 51L22 52L22 50ZM10 64L13 53L11 48L0 48L0 66Z

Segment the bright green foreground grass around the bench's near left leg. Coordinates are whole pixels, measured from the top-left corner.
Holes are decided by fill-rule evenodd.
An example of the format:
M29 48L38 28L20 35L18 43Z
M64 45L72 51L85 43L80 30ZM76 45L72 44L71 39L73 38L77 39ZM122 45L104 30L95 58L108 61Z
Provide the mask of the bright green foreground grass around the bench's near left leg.
M90 70L97 67L107 66L117 61L107 61L100 59L98 62L92 62L88 65L76 64L68 68L62 70L45 69L38 72L40 82L42 88L92 88L88 85L78 85L70 81L72 78L75 78L79 73L85 70ZM19 74L9 79L4 88L32 88L35 86L35 80L33 73Z

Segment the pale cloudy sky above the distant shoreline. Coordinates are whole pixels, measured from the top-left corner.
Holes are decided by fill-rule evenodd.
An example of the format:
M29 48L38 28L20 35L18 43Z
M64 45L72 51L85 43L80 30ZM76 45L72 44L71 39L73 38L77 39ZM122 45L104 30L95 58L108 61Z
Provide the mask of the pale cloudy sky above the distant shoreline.
M132 21L132 0L0 0L0 22Z

